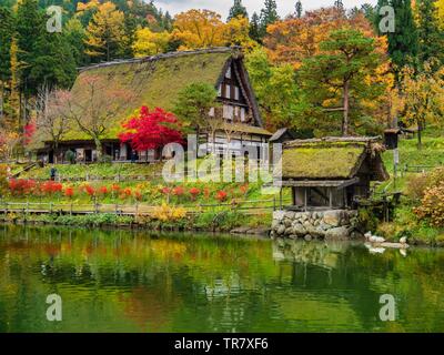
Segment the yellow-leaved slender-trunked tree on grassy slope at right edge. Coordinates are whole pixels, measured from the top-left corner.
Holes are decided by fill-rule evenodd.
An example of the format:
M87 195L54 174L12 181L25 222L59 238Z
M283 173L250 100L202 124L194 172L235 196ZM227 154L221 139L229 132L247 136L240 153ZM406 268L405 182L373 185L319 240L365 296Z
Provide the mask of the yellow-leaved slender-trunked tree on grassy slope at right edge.
M417 146L422 148L422 132L426 123L444 123L444 67L434 71L432 62L425 62L421 72L405 67L401 72L401 92L406 123L417 126Z

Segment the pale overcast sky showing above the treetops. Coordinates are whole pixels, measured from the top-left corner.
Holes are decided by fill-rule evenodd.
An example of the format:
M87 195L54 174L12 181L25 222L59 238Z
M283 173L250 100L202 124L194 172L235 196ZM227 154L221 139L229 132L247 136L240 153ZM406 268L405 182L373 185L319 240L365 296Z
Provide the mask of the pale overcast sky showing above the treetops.
M276 0L278 11L281 17L294 12L296 0ZM345 8L350 9L363 3L375 4L376 0L343 0ZM209 9L221 13L224 18L228 16L233 0L154 0L158 8L164 11L170 11L171 14L182 12L189 9ZM249 11L249 16L256 11L261 11L264 0L242 0L244 7ZM321 7L329 7L334 3L334 0L302 0L304 10L312 10Z

